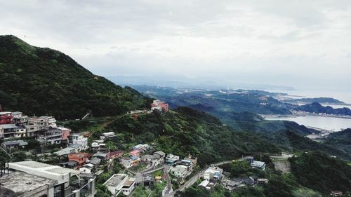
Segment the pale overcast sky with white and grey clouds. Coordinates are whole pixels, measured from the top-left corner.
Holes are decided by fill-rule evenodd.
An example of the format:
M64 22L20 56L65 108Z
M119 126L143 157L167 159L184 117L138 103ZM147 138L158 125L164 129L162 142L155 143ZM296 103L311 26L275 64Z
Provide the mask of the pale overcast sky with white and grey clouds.
M351 1L0 1L0 34L102 76L351 90Z

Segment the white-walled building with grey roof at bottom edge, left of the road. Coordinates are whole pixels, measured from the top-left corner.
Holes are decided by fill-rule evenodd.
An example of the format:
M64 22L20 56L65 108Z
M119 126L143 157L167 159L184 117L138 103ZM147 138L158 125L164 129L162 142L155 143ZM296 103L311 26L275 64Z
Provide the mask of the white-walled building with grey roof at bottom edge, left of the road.
M135 178L126 174L114 174L103 185L107 186L112 196L118 196L121 192L128 196L135 189Z

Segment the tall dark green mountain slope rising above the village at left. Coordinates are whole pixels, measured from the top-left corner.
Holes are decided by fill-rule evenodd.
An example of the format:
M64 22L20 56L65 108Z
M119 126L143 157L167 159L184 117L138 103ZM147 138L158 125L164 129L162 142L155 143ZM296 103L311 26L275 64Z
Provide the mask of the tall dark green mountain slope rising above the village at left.
M0 104L8 111L59 119L122 114L148 107L145 97L96 76L58 50L0 36Z

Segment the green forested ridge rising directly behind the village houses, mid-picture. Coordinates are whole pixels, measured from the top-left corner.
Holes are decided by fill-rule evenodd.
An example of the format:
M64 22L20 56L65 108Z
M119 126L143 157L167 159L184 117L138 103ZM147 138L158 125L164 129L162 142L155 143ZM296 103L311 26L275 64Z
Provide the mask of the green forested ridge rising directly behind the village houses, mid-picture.
M110 123L105 131L117 132L114 143L120 149L154 142L166 153L197 156L201 164L230 160L251 152L280 151L265 140L236 132L223 126L218 118L187 107L165 114L154 112L136 120L124 116Z

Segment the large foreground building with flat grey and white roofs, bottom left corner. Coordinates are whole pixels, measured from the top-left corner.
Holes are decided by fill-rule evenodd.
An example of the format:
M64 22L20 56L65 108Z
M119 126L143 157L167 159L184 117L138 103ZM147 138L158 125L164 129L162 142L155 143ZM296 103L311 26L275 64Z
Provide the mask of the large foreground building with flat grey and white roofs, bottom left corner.
M21 197L93 197L96 193L95 177L79 176L77 170L37 161L8 163L8 168L8 175L0 177L0 196L3 192ZM70 178L74 176L79 182L71 182Z

